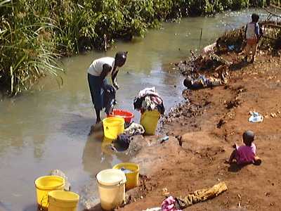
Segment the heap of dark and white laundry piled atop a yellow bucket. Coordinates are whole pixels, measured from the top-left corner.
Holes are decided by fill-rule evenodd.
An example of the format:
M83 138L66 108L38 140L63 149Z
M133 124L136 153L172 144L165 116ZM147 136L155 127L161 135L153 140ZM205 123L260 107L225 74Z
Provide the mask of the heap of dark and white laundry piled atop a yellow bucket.
M141 110L141 113L145 110L158 110L161 114L165 112L163 100L156 92L155 87L141 90L133 101L133 108Z

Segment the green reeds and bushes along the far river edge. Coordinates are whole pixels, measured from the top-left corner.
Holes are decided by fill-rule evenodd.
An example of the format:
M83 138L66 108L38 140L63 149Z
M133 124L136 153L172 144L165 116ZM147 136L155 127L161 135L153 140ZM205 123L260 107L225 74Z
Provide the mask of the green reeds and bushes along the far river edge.
M164 20L251 5L250 0L0 0L0 87L18 94L44 75L63 72L58 56L144 36Z

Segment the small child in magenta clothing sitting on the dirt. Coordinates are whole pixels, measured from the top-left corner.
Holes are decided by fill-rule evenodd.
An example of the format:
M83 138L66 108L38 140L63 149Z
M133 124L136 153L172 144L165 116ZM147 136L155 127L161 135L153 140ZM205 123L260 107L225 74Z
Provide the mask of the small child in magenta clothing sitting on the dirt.
M236 160L238 165L247 165L254 163L256 165L261 164L261 159L256 156L256 145L254 141L254 132L247 130L243 134L244 146L237 146L235 143L235 150L230 155L229 163Z

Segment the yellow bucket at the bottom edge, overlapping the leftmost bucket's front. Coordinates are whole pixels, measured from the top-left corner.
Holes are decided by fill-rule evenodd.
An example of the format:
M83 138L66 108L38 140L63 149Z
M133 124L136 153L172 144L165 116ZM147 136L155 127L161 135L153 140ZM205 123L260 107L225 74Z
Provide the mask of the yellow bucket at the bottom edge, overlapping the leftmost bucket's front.
M79 195L70 191L48 193L48 211L76 211Z

